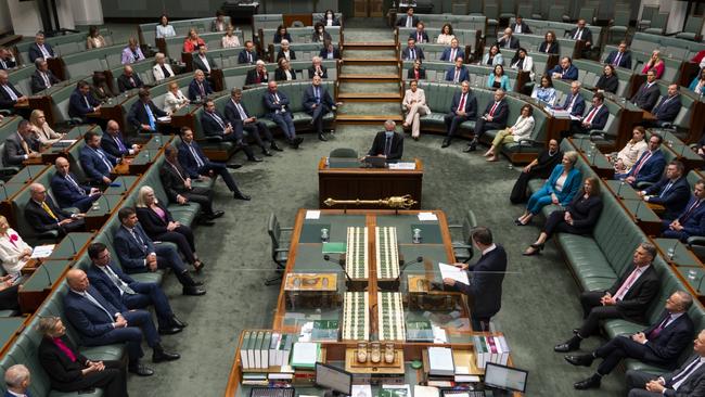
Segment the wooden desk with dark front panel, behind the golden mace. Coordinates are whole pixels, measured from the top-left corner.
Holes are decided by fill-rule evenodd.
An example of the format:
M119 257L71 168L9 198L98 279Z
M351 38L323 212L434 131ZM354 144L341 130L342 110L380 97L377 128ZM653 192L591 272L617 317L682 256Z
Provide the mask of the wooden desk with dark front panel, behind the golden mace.
M389 196L411 195L419 202L413 208L421 208L423 164L415 158L414 170L390 170L387 168L330 168L325 157L318 164L318 201L321 208L329 208L323 202L335 200L380 200ZM380 208L376 205L348 208ZM343 208L343 206L335 206Z

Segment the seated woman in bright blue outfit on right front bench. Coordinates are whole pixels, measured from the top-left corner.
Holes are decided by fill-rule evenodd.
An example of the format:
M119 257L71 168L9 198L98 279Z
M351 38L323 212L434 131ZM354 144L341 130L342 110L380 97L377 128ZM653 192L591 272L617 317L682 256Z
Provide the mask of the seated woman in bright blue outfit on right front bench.
M580 189L582 175L575 168L578 161L577 152L567 152L563 155L561 164L556 165L543 187L529 197L526 212L514 221L517 226L524 226L531 221L541 208L549 204L566 206Z

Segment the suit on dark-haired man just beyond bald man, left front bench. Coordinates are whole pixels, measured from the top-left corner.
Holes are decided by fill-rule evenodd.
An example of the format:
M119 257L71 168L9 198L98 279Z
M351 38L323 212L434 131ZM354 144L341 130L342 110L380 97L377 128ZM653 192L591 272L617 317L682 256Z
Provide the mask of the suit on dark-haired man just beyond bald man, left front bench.
M138 282L131 277L126 274L119 266L115 264L107 265L118 279L123 280L136 294L121 293L120 289L115 285L113 280L95 264L91 265L86 273L92 286L98 290L103 297L108 299L113 305L125 306L132 309L144 309L150 305L154 305L157 322L159 328L167 328L174 318L174 311L169 306L169 300L157 283Z

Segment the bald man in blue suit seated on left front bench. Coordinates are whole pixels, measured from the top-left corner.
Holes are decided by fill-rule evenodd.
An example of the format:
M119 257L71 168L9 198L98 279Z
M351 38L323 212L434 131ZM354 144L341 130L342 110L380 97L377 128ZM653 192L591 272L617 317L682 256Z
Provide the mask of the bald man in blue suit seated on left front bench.
M152 348L152 362L174 361L181 356L162 347L162 340L146 310L115 307L92 285L86 272L72 269L66 273L68 293L64 296L64 312L85 346L104 346L127 343L127 370L140 376L150 376L152 369L140 363L144 356L142 340Z

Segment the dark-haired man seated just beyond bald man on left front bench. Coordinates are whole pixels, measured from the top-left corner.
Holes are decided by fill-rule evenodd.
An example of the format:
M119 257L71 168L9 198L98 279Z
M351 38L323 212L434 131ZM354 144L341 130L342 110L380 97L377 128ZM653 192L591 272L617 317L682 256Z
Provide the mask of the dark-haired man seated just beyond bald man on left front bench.
M111 303L120 303L128 309L145 309L154 306L159 334L181 332L187 324L179 320L169 305L162 287L154 282L138 282L111 260L111 252L103 243L88 247L92 266L86 271L91 285Z

